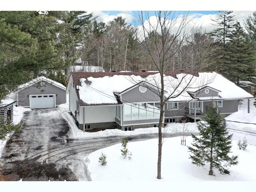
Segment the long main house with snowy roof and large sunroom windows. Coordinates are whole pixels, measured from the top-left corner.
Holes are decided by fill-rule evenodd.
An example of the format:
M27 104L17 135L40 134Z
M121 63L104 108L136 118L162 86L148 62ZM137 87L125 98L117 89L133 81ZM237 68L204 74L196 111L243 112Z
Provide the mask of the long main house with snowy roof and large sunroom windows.
M78 128L88 131L156 127L159 85L158 72L71 72L70 114ZM212 104L225 117L238 111L239 100L253 98L217 72L165 72L164 92L166 97L173 93L165 104L165 124L185 116L202 120Z

